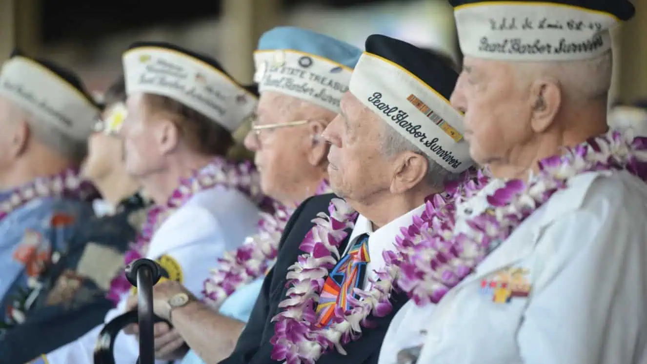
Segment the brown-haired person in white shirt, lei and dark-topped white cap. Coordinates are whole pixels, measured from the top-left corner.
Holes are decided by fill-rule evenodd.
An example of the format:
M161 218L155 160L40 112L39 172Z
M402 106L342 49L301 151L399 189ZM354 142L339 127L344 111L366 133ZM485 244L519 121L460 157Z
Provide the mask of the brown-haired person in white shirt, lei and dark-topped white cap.
M257 99L214 59L175 45L138 42L123 58L125 167L156 205L126 262L155 259L165 279L198 294L204 272L255 230L258 204L265 200L255 171L223 157L233 144L232 131L254 111ZM123 275L111 286L119 303L106 322L124 312L131 292L120 279ZM39 360L92 363L102 329L93 328ZM117 363L137 360L134 337L121 335L113 344ZM98 346L98 352L107 347Z

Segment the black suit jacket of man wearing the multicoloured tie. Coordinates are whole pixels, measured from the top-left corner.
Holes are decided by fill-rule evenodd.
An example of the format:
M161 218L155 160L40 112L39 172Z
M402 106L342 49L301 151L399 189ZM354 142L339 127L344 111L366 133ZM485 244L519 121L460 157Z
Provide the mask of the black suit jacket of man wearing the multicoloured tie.
M281 237L280 250L278 259L274 268L270 270L263 288L256 299L256 304L252 310L252 315L239 337L232 355L221 361L221 364L274 364L270 358L272 354L272 344L270 339L274 336L274 323L270 322L272 317L278 314L278 304L286 297L287 279L285 276L292 264L303 252L299 249L303 238L314 224L312 220L317 213L328 211L328 205L335 195L320 195L311 197L301 206L299 206L291 219L285 226L283 236ZM344 252L348 244L350 231L347 239L340 246L340 252ZM345 345L347 355L342 355L331 350L317 361L318 364L373 364L377 363L382 340L386 330L393 319L395 313L406 303L406 295L394 294L391 303L393 303L393 312L386 317L369 317L375 325L372 328L363 328L362 336L356 341Z

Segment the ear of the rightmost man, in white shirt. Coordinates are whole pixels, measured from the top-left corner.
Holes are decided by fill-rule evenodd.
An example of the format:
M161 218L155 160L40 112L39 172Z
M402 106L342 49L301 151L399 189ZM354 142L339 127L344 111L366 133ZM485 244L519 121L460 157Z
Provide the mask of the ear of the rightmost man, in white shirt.
M531 85L531 128L534 133L546 131L562 105L560 83L552 78L536 80Z

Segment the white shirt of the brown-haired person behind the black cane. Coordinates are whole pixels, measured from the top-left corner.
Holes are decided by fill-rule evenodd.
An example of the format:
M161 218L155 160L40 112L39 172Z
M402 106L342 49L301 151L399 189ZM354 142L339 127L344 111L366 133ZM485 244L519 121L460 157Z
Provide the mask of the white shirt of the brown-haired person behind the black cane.
M259 210L235 189L216 186L193 196L166 219L151 239L147 257L169 255L181 266L182 284L201 297L203 281L223 253L234 250L254 233ZM105 322L124 312L128 294L105 316ZM103 325L76 341L47 354L48 364L93 364L93 352ZM139 356L135 336L123 332L115 341L115 363L132 364ZM159 361L159 363L164 363Z

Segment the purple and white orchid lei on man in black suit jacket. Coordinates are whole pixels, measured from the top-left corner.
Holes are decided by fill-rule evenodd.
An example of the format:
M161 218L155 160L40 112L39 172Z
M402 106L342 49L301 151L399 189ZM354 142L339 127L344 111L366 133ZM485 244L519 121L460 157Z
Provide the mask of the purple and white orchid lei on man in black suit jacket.
M468 193L470 190L463 188L463 181L471 180L473 172L467 171L460 183L446 186L445 193L434 195L434 203L444 205ZM429 219L433 219L436 212L430 206L433 205L428 205L422 213L423 219L428 219L428 214L431 214ZM329 215L320 213L313 220L315 226L300 246L306 254L298 257L287 274L291 288L287 292L288 298L279 305L284 310L272 318L276 321L271 340L274 360L285 360L288 364L314 363L332 347L345 354L343 345L360 336L362 325L369 325L367 317L371 313L381 317L391 312L389 296L398 270L396 266L387 265L376 272L377 279L369 278L368 290L355 289L359 299L348 297L351 310L344 311L338 307L332 324L326 328L318 327L316 305L323 283L329 270L339 261L338 248L347 231L355 226L357 217L356 211L340 198L331 200L328 211Z

